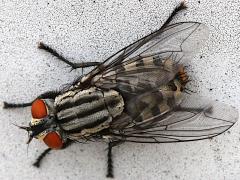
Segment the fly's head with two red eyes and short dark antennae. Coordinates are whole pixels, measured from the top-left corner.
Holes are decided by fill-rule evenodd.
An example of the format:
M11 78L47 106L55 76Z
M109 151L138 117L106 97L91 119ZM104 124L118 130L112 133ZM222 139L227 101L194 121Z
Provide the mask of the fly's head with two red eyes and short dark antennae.
M60 149L66 138L56 121L53 99L36 99L31 107L32 119L28 127L21 126L29 133L27 144L33 138L42 140L49 148Z

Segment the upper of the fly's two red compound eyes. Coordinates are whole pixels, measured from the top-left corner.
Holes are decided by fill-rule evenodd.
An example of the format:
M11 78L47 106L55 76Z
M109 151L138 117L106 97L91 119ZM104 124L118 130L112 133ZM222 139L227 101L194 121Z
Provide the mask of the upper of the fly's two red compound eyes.
M42 119L47 116L47 107L42 99L37 99L32 103L32 117Z

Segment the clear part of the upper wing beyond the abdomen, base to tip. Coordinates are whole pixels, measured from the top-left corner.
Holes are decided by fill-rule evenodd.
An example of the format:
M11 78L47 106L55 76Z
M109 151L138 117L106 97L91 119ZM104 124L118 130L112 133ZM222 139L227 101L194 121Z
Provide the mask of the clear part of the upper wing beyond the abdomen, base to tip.
M180 22L159 29L148 36L121 49L96 67L91 73L106 71L114 66L136 61L136 57L159 55L169 57L174 54L176 59L189 58L208 38L208 28L198 22ZM131 60L132 59L132 60ZM128 62L127 62L128 61Z

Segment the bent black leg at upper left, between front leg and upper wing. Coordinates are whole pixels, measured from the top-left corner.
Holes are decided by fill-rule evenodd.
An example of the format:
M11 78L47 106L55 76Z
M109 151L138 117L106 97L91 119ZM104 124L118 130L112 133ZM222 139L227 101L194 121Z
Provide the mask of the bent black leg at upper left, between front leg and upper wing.
M49 52L53 56L56 56L60 61L68 64L69 66L71 66L72 69L85 68L85 67L90 67L90 66L97 66L97 65L100 64L100 62L73 63L73 62L67 60L62 55L60 55L55 49L52 49L51 47L49 47L48 45L46 45L46 44L44 44L42 42L39 43L38 48L39 49L43 49L43 50Z

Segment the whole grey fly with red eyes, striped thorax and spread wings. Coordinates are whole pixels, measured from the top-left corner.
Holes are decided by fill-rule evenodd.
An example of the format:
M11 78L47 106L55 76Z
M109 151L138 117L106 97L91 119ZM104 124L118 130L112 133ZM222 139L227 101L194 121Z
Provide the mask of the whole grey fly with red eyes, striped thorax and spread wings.
M44 43L39 48L72 69L95 66L61 91L49 91L29 103L4 102L4 108L31 106L29 126L19 126L52 149L74 142L108 143L107 177L113 177L112 148L123 142L170 143L206 139L229 129L235 108L209 101L186 88L184 64L208 36L198 22L171 24L182 2L160 29L121 49L104 62L72 63Z

